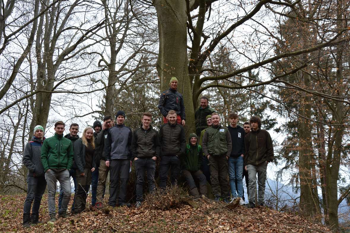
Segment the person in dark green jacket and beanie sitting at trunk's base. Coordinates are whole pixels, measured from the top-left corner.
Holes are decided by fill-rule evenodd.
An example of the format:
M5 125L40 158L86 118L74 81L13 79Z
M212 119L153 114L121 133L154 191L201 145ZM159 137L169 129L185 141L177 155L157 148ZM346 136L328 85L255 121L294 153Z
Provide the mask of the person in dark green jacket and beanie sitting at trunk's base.
M185 154L181 156L181 173L189 186L189 194L194 199L198 199L202 195L207 197L207 180L200 170L203 152L197 140L197 135L191 133L189 136L189 143L186 144ZM199 182L199 192L195 180Z

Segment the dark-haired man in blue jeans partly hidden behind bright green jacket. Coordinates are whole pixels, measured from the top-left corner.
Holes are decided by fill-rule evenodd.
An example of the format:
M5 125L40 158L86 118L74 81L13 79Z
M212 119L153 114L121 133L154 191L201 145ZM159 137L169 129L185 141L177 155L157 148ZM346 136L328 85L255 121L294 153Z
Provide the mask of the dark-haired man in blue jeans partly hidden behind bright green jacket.
M72 123L69 127L69 133L66 134L64 137L68 138L69 140L71 140L72 144L73 144L73 151L74 151L74 143L76 140L79 139L79 125L77 123ZM73 161L74 162L74 161ZM75 173L75 169L71 168L69 170L69 177L73 178L73 183L74 183L74 193L78 190L78 186L77 186L77 174ZM58 195L58 212L61 210L61 204L62 204L62 199L63 199L63 189L61 188L59 191L59 195ZM75 195L73 198L73 204L72 204L72 212L74 212L74 201L75 201Z

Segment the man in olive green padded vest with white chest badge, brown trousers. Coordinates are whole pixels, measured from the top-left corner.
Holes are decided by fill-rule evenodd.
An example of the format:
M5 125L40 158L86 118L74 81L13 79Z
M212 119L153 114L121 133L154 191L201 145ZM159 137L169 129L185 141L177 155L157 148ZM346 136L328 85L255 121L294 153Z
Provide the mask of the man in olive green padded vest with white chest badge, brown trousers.
M211 121L211 127L205 131L203 136L203 153L209 160L211 187L215 201L218 202L221 197L226 203L229 203L227 160L232 150L231 135L229 130L220 124L218 113L211 114Z

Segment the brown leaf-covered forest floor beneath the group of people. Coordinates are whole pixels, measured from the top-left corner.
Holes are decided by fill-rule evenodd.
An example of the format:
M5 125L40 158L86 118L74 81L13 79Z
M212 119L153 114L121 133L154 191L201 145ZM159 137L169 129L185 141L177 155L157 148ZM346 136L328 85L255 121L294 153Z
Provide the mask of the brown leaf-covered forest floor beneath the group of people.
M205 200L192 201L190 205L172 197L165 201L153 199L154 204L146 204L146 201L139 209L134 205L115 207L111 211L92 208L51 223L48 222L46 194L40 206L40 220L44 223L23 228L25 198L25 194L0 195L0 232L330 232L322 224L296 213L277 212L267 207L247 209ZM56 196L56 205L57 200ZM72 201L73 196L68 211ZM90 201L91 197L88 197L87 202ZM173 207L160 208L167 205Z

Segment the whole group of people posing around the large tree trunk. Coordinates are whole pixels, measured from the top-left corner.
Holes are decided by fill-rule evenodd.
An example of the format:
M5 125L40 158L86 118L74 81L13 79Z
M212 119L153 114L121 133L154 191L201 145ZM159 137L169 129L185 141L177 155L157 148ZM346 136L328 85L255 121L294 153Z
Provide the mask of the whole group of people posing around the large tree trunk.
M140 127L132 130L125 126L126 115L118 111L115 121L105 116L103 123L95 121L78 136L79 125L70 125L69 134L63 137L65 124L55 123L55 134L44 137L44 128L34 128L34 137L23 152L23 164L28 168L27 198L23 209L23 226L38 223L39 207L46 186L50 221L56 221L56 182L61 186L58 217L66 218L74 182L72 213L84 211L91 185L92 205L104 207L106 179L110 173L108 206L128 206L127 184L132 162L136 173L136 204L143 201L143 187L147 172L148 191L156 188L155 170L159 162L160 189L170 183L177 184L180 174L186 180L189 194L194 199L207 197L207 182L212 187L215 201L229 203L239 198L244 202L243 177L245 177L249 207L255 207L256 175L258 174L258 204L264 205L267 163L273 161L273 146L269 133L261 128L257 116L237 125L238 115L229 114L226 128L221 118L208 105L208 98L200 99L196 111L196 133L186 142L185 108L182 95L177 92L178 80L170 80L170 88L161 93L159 109L164 124L159 132L152 128L152 114L144 112ZM229 176L229 180L228 180ZM196 182L199 184L198 187ZM231 193L230 193L231 190ZM34 202L34 203L33 203ZM33 203L33 206L32 206ZM32 206L32 207L31 207ZM31 209L31 214L30 214Z

